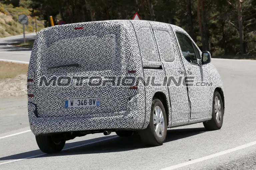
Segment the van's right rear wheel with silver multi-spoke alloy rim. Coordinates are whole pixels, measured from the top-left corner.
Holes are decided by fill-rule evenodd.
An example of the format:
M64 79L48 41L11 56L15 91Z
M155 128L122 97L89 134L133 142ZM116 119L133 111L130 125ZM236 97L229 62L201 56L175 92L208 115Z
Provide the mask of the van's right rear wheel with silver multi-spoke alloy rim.
M158 128L159 132L156 130ZM138 133L141 140L149 146L159 146L164 143L167 134L167 119L164 106L159 99L154 98L152 101L148 127L138 130Z

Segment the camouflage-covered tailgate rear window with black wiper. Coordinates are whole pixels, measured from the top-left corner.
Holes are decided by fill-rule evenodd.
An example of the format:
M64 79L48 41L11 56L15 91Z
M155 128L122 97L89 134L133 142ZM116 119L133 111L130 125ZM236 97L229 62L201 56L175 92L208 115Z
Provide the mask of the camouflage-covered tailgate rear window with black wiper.
M47 67L48 74L112 70L116 65L116 48L114 34L77 37L51 43L47 55L41 59ZM76 62L80 64L79 68L48 69Z

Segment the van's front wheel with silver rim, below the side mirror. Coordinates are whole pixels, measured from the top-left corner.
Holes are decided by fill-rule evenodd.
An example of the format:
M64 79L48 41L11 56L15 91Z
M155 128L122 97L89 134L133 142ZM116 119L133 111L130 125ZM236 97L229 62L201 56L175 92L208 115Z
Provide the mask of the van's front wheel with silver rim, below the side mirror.
M212 119L208 122L204 122L203 124L206 130L218 130L222 127L223 103L222 103L221 95L218 91L215 91L213 94Z

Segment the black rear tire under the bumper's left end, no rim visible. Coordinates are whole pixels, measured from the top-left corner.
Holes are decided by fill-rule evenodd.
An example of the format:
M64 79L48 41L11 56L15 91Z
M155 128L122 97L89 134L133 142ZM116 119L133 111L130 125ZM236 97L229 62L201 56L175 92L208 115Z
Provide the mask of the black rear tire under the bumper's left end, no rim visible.
M44 153L60 152L66 143L59 135L36 135L36 142Z

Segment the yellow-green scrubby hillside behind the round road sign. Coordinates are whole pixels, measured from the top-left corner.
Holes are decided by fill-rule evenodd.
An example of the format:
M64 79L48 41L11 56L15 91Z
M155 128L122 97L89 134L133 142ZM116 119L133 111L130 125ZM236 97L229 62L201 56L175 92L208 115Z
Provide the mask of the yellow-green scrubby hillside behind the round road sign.
M32 33L32 20L30 17L31 12L28 8L13 7L12 5L5 5L0 3L0 38L23 34L23 26L18 22L18 16L25 14L28 16L28 25L25 25L25 33ZM44 28L44 21L37 20L37 31ZM34 24L35 32L35 24Z

